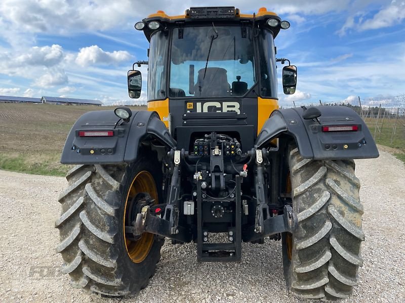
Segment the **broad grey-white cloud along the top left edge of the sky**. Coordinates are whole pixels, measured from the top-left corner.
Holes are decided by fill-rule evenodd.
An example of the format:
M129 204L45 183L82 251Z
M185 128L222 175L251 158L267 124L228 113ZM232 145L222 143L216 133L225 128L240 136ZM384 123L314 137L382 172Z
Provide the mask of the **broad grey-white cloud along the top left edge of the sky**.
M155 12L158 1L2 0L0 15L10 28L31 33L71 34L107 30Z

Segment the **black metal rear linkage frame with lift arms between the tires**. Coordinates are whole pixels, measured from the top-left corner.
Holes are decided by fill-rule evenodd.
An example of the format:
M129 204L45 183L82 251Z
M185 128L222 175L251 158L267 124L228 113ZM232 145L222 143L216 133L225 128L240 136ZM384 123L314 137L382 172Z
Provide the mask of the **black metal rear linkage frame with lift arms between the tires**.
M230 243L205 243L204 237L206 231L203 230L203 196L205 194L201 190L201 178L198 174L194 176L196 182L196 211L197 211L197 227L196 230L192 225L190 227L183 227L179 225L179 208L181 207L180 194L180 180L181 180L181 164L187 157L184 149L174 150L167 154L171 163L172 174L171 183L168 189L167 204L163 205L163 216L156 215L150 211L150 206L146 204L141 213L137 215L133 224L133 233L135 237L139 237L143 232L148 232L172 239L172 243L185 243L196 240L197 242L197 259L198 261L240 261L241 258L241 241L263 243L263 238L282 232L294 233L298 226L298 219L296 213L290 205L284 207L283 214L270 216L269 207L265 195L265 181L264 181L264 164L263 161L267 158L268 152L265 148L254 149L248 152L251 160L255 161L255 178L254 186L256 189L256 218L255 225L244 226L242 230L241 213L242 213L242 200L241 200L241 183L244 177L247 176L247 171L240 172L235 176L235 192L232 198L235 206L235 226L232 228L233 241ZM211 155L211 158L213 156ZM252 159L253 158L253 159ZM213 159L212 159L213 160ZM220 180L218 180L220 181ZM223 181L219 182L220 184ZM194 211L194 206L192 206ZM232 251L226 256L213 256L210 251L227 250Z

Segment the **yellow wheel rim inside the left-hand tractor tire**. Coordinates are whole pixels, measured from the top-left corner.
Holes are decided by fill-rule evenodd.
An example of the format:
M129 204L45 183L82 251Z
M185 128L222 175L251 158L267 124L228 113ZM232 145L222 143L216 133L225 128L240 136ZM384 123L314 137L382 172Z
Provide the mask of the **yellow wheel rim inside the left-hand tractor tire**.
M146 259L149 254L150 249L153 245L154 235L148 232L142 234L141 238L137 241L132 241L128 239L125 233L125 226L131 225L129 221L129 215L133 210L134 205L131 205L129 201L135 197L138 193L147 192L152 199L155 200L155 204L158 203L157 200L157 190L156 184L153 176L148 171L139 172L131 182L131 186L128 190L127 199L125 201L124 209L124 242L125 248L127 249L128 256L134 263L141 263Z

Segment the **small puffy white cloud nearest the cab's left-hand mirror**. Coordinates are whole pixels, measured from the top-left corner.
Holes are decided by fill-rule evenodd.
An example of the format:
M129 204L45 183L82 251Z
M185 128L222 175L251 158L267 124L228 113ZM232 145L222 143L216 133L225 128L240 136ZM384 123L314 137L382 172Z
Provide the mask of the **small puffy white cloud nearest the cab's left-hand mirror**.
M114 51L112 53L104 52L97 45L80 48L76 58L76 63L80 66L88 66L95 64L111 65L123 61L128 61L132 58L127 51Z

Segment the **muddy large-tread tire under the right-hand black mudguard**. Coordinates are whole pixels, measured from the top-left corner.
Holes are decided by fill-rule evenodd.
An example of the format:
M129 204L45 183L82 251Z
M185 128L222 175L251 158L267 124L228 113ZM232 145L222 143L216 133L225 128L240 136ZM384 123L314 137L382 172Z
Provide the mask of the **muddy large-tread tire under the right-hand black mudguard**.
M293 210L298 230L293 234L291 260L283 235L283 264L287 285L303 298L335 301L358 285L362 266L363 207L354 161L303 159L289 149Z

